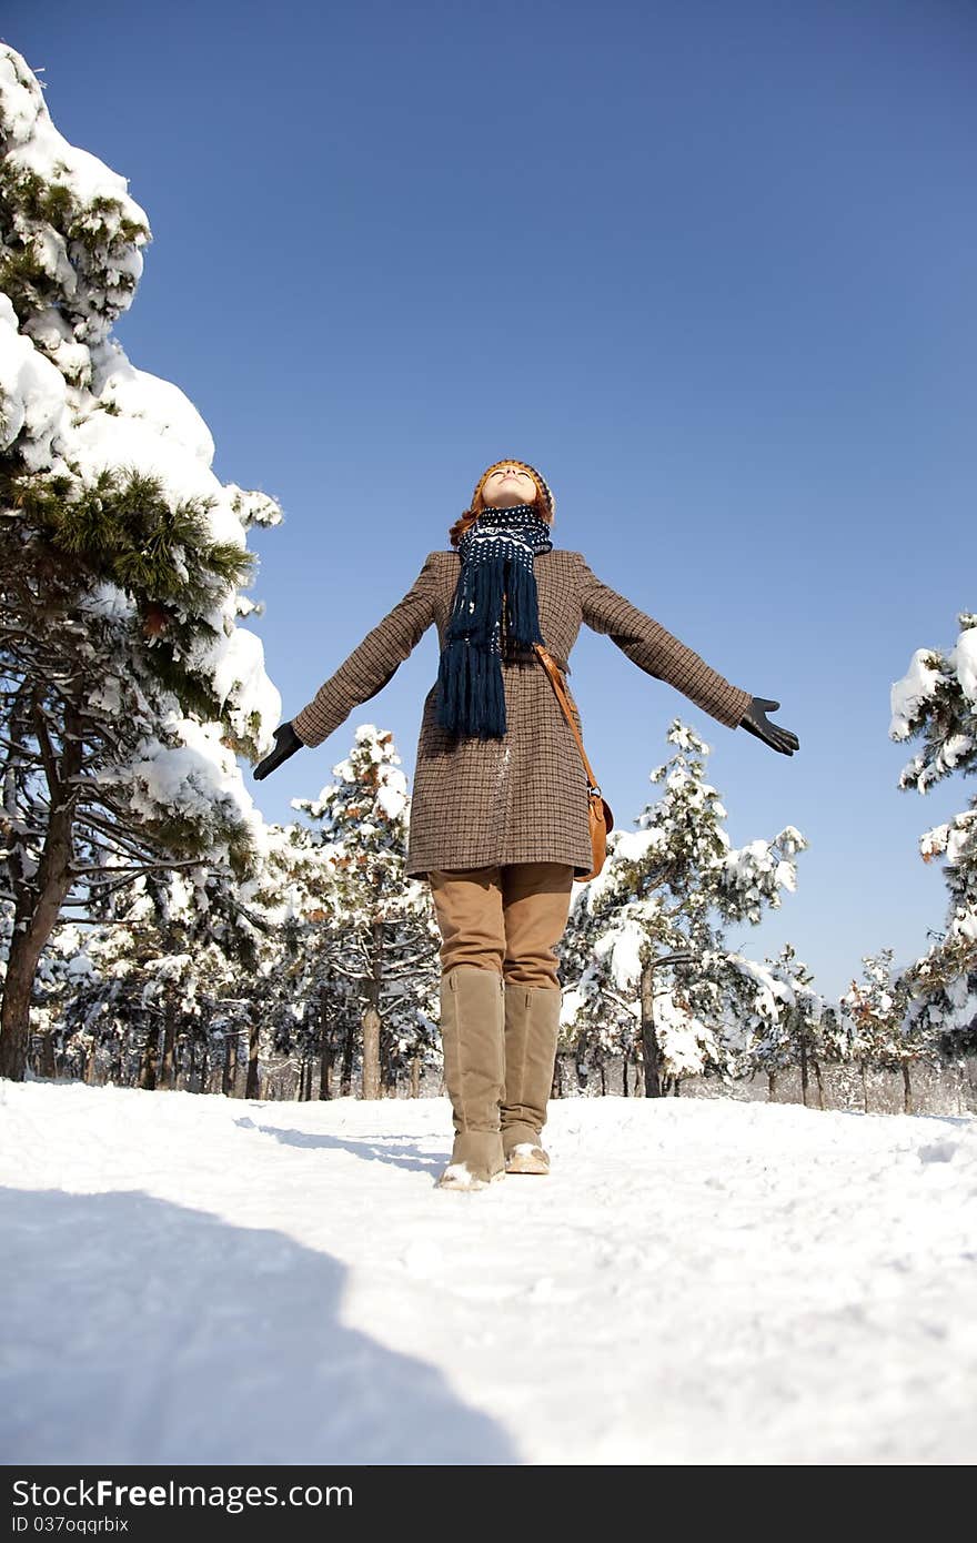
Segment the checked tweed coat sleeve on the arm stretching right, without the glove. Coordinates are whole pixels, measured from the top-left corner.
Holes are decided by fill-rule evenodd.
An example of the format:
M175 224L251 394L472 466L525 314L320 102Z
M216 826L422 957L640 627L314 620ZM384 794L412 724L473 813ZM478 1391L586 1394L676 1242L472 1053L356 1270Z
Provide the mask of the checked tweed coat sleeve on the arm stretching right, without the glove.
M753 701L750 691L732 685L725 676L712 670L699 654L687 648L661 622L639 611L622 594L611 589L593 572L582 554L579 583L580 609L587 626L594 633L607 633L617 648L634 663L667 680L704 713L716 717L727 728L736 728Z

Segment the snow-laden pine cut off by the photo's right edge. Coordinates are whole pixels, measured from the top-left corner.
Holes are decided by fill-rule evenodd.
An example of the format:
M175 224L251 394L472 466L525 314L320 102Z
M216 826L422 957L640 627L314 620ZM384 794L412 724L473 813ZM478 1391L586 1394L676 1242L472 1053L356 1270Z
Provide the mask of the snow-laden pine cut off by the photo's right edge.
M962 611L949 650L917 648L891 688L891 739L921 738L898 779L926 793L935 782L977 770L977 613ZM946 927L904 972L912 1035L935 1035L943 1055L977 1049L977 795L969 807L923 832L925 863L945 856Z

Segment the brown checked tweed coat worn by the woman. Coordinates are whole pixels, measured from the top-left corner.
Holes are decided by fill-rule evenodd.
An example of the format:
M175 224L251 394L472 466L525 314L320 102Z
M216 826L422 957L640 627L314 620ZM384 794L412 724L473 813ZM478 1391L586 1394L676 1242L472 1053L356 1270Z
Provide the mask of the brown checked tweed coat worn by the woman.
M445 647L460 562L454 548L428 552L403 600L292 719L306 745L321 744L357 707L377 696L432 622ZM570 651L585 623L607 633L641 670L676 687L721 724L735 728L741 722L750 693L710 670L659 622L602 583L582 552L559 546L539 552L534 572L540 631L563 677L570 674ZM407 876L503 863L568 863L574 878L591 869L587 773L553 684L532 651L509 648L502 671L506 702L502 739L449 734L437 722L437 680L424 697ZM599 755L593 759L599 764Z

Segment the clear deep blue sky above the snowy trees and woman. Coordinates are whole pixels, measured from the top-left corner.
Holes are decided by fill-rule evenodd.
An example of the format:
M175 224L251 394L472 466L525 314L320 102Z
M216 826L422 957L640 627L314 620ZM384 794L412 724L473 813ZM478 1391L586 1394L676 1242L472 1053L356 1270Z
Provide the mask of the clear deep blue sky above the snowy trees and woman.
M587 630L585 741L630 827L685 717L735 844L795 824L792 941L820 988L942 927L889 687L977 608L977 6L188 5L8 0L60 131L153 227L117 335L281 500L255 622L284 716L414 582L480 472L517 457L554 539L801 741L729 730ZM358 722L414 772L437 634Z

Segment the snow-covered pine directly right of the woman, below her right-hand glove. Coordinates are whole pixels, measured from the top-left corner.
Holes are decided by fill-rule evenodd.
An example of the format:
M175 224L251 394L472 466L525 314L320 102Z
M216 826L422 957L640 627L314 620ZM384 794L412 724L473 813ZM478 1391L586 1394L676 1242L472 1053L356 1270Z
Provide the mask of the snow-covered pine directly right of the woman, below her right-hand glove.
M705 781L708 745L678 717L667 739L676 751L650 773L664 795L637 830L611 832L603 872L574 895L560 954L565 1040L607 1034L608 1023L625 1052L637 1040L647 1097L685 1075L750 1069L756 1032L789 991L729 950L719 921L756 923L764 906L779 906L807 847L787 826L733 850L725 809Z

